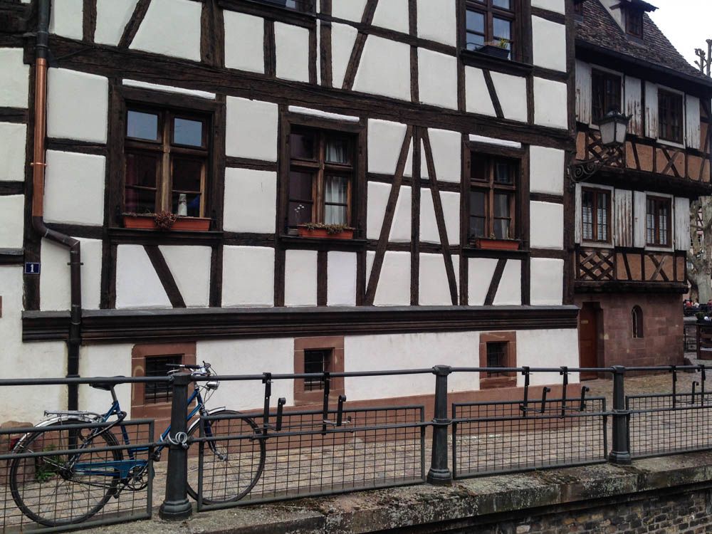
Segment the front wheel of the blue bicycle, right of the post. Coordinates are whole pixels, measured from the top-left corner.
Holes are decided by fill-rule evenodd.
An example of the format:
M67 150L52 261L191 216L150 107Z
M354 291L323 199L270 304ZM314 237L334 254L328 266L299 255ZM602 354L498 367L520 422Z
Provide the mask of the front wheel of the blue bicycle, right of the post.
M220 410L211 416L242 415L234 410ZM189 429L189 436L199 436L200 424ZM260 429L250 417L211 422L213 436L246 436ZM244 498L262 476L266 450L264 439L226 439L206 441L203 446L203 504L231 503ZM219 454L224 455L221 459ZM189 461L188 494L198 500L198 459Z

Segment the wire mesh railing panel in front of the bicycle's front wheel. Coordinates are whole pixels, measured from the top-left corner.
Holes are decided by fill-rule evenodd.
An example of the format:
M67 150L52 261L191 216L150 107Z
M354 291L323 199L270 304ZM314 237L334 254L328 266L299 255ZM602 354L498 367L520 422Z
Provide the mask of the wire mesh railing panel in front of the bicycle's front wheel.
M199 454L199 509L276 501L424 480L424 408L206 417ZM208 434L212 434L209 437Z

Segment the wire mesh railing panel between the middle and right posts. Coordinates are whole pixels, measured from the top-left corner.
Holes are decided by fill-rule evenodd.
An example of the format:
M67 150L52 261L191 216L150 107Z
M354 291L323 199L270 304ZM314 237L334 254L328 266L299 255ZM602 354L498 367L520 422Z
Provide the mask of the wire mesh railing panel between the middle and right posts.
M605 461L603 397L453 404L453 476Z

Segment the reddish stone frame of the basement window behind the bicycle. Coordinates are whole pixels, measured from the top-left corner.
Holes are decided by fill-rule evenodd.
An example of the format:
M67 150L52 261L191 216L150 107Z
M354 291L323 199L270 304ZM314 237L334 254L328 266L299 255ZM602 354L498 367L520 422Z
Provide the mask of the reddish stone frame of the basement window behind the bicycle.
M195 343L142 343L131 350L131 376L145 376L146 360L150 357L181 357L182 364L196 365ZM132 419L152 418L167 422L171 417L171 402L145 402L146 384L131 384Z

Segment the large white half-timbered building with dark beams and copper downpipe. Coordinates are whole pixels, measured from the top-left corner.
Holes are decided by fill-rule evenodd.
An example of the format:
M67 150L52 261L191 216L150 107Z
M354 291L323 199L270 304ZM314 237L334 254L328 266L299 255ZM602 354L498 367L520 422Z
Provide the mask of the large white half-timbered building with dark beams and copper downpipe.
M572 0L55 0L44 46L46 4L0 0L5 376L578 364Z

